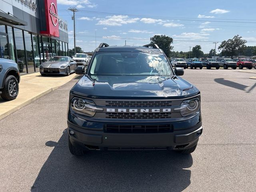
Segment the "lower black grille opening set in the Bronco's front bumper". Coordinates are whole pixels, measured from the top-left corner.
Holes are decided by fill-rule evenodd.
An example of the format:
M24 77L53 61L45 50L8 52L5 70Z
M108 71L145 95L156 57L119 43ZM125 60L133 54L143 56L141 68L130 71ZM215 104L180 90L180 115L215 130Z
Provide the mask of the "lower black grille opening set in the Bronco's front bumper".
M104 125L106 133L168 133L173 132L173 125Z

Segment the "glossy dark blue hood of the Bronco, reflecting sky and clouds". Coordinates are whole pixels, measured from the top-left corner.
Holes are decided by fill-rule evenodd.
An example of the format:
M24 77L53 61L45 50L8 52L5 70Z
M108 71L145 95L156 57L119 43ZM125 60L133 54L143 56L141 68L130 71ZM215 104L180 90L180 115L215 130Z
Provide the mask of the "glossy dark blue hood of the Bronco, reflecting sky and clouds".
M88 98L173 99L196 95L199 90L180 77L97 76L93 82L88 76L83 76L70 92Z

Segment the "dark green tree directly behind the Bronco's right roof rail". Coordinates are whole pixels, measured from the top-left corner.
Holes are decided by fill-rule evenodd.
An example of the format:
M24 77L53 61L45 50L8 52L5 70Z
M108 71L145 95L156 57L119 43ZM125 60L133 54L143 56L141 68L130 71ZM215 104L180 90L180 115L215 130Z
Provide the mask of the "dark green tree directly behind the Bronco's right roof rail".
M170 58L173 39L166 35L154 35L150 38L151 44L157 44L161 48L166 56Z

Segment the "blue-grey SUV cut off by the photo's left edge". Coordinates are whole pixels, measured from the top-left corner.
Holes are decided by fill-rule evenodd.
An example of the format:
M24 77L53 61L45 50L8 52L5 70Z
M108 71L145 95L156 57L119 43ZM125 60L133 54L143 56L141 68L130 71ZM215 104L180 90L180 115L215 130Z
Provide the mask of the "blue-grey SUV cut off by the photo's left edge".
M19 93L20 73L13 60L0 58L0 96L4 100L14 100Z

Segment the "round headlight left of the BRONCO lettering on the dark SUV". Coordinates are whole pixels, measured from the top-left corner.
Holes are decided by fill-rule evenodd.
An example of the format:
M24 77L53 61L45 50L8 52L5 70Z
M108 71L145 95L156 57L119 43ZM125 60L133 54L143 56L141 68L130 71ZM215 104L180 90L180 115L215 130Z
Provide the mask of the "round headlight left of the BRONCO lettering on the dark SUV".
M103 108L97 108L93 101L76 97L71 100L71 108L78 114L90 117L94 116L97 111L103 111Z

